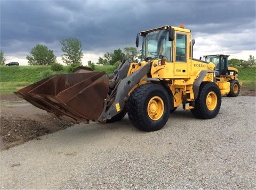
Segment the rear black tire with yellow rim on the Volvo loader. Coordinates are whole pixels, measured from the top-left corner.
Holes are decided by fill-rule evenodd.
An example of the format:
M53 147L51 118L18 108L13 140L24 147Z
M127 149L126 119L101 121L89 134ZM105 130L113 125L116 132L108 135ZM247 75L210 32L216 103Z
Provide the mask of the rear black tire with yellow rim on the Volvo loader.
M221 106L221 93L217 84L202 82L198 97L191 113L199 119L212 119L217 116Z

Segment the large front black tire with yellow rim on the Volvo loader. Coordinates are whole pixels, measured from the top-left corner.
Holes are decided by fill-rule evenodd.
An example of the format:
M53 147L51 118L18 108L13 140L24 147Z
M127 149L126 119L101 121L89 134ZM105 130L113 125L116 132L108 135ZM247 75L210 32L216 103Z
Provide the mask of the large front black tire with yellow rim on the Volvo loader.
M170 105L170 96L164 87L151 83L140 85L130 96L130 122L142 131L157 131L166 124Z

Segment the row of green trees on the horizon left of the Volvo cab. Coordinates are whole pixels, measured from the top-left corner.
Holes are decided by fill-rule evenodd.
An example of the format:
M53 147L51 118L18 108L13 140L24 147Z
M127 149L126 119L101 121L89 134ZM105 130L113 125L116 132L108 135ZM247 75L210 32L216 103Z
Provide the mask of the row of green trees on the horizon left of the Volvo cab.
M82 43L77 38L66 38L60 41L62 45L61 50L63 54L61 55L61 59L63 63L69 66L77 67L83 65L83 51L82 51ZM114 53L105 53L103 57L99 57L97 63L93 63L92 61L88 61L87 64L89 66L93 66L95 64L99 65L114 65L119 63L126 57L135 58L139 54L139 51L134 47L125 47L124 53L121 49L114 50ZM28 65L52 65L59 64L57 63L57 56L54 55L53 50L50 50L47 46L37 44L30 50L30 55L27 55L26 59L28 60ZM0 64L5 64L4 53L1 50L0 53Z

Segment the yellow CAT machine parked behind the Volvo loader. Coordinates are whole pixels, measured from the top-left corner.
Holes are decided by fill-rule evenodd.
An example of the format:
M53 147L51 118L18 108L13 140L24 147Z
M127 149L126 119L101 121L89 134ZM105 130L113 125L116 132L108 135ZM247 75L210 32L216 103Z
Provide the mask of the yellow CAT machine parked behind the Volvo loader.
M203 57L200 57L200 59L204 58L206 62L215 64L215 70L217 71L216 79L217 83L219 83L218 86L222 90L222 94L227 95L227 97L237 97L242 83L238 82L237 68L228 66L228 57L229 55L218 54L204 55Z

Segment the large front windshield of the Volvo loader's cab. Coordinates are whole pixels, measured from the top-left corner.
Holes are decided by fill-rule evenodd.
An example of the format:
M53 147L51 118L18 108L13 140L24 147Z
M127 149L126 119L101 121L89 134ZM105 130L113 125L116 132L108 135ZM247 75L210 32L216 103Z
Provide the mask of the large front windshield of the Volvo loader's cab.
M172 41L169 41L167 30L149 32L143 36L142 61L158 59L159 56L172 62Z

